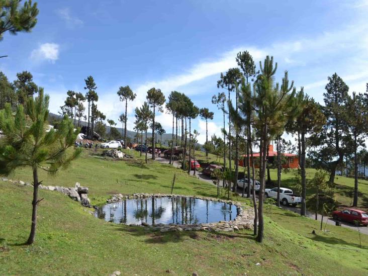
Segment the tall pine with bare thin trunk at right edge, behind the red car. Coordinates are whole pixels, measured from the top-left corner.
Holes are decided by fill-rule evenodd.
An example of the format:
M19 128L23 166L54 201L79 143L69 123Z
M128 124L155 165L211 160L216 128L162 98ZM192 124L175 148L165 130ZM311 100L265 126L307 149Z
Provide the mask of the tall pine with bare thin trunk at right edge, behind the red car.
M354 152L354 200L353 206L358 205L358 148L364 145L366 133L368 131L368 95L355 92L352 97L347 97L346 102L346 127L347 142L349 148Z

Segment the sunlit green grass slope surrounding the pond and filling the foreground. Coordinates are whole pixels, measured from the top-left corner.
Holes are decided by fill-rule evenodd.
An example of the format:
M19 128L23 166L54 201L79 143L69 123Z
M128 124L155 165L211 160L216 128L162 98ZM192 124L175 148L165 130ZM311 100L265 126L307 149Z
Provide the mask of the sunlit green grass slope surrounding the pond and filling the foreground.
M87 186L93 204L114 193L169 193L176 173L174 193L215 197L216 188L169 165L141 160L112 161L85 151L66 171L52 178L44 172L44 185ZM135 153L138 154L138 153ZM29 169L10 178L31 180ZM357 247L357 232L327 226L292 212L272 207L265 211L264 243L252 231L236 233L154 233L141 227L116 225L91 216L68 197L40 191L36 242L27 240L30 228L30 187L0 181L1 275L104 275L115 270L124 275L339 275L368 273L368 236ZM235 198L234 198L235 199ZM244 199L238 200L246 203ZM317 229L317 235L310 234ZM360 252L334 247L359 249ZM343 256L343 257L342 257ZM260 263L260 265L255 265Z

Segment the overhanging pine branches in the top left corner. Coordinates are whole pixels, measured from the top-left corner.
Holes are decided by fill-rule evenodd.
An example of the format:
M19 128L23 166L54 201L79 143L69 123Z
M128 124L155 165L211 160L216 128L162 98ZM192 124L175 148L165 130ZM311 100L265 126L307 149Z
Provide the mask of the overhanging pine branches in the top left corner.
M31 32L36 26L37 3L32 5L32 1L25 1L23 7L19 7L20 0L1 1L0 9L0 40L3 40L4 33L9 31L12 35L19 32Z

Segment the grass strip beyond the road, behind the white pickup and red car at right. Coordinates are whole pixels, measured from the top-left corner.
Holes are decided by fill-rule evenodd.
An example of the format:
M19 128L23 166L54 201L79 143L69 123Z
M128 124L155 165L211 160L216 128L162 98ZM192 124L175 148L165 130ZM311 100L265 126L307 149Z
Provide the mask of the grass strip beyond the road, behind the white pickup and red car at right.
M308 180L312 179L315 173L315 169L307 168L306 169L306 178ZM274 183L277 183L277 170L270 169L270 177ZM282 172L282 187L289 188L294 190L294 192L298 193L296 180L294 176L293 170L289 173ZM352 205L352 197L354 193L354 178L348 178L344 176L336 176L335 177L336 187L333 189L333 193L336 195L336 200L344 206ZM358 199L358 208L366 210L368 208L368 181L367 180L358 180L358 189L359 189L359 199ZM325 193L331 196L330 189L326 189ZM307 197L314 195L315 189L313 187L307 186Z

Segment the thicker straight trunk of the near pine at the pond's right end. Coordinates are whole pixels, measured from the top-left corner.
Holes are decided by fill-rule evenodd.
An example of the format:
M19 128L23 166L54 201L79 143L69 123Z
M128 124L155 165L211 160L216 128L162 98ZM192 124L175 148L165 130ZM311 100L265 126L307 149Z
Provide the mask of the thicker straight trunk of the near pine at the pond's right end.
M266 166L267 166L267 151L268 151L268 141L267 141L267 125L264 124L262 130L262 168L261 168L261 178L260 178L260 191L258 193L258 235L257 241L263 241L263 232L264 232L264 221L263 221L263 199L264 199L264 187L265 187L265 175L266 175Z

